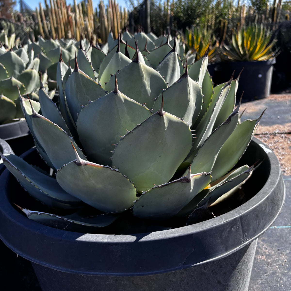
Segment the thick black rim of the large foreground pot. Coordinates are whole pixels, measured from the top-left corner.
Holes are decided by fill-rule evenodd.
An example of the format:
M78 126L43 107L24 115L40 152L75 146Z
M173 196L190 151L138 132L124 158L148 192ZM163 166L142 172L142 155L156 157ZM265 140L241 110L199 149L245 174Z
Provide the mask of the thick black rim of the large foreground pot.
M270 161L267 182L247 202L213 219L152 233L82 234L43 226L31 221L13 208L6 195L1 195L0 219L4 219L6 225L13 227L16 232L24 231L24 236L28 232L33 237L31 239L26 235L29 242L24 243L25 246L17 242L11 243L9 241L11 231L7 229L5 231L5 227L1 228L3 225L1 223L0 238L10 249L32 262L74 274L151 275L202 265L223 258L262 235L278 217L285 201L285 186L277 157L261 141L253 139L252 143L265 151ZM7 180L8 173L8 170L5 170L3 176L1 175L0 191L3 191L6 186L7 181L3 183L2 180L4 178ZM272 203L275 203L276 207L273 205L270 207ZM265 213L260 216L262 211L272 212L271 217ZM245 219L254 215L253 213L257 215L258 222L249 222ZM31 243L35 246L31 246ZM38 247L42 249L42 252L38 249L36 251ZM48 254L45 253L47 248L50 248ZM204 249L205 253L203 253ZM64 254L65 259L57 258ZM172 256L172 258L167 256ZM89 262L83 262L84 258Z

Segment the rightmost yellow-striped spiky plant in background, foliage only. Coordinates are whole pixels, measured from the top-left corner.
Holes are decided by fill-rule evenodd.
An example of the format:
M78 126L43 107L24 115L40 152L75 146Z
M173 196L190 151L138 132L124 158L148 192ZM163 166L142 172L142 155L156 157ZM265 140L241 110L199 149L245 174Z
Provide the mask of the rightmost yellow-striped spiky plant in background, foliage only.
M272 32L263 24L252 24L247 28L233 30L229 45L223 43L221 58L228 61L266 61L275 57L273 47L276 39L271 40Z

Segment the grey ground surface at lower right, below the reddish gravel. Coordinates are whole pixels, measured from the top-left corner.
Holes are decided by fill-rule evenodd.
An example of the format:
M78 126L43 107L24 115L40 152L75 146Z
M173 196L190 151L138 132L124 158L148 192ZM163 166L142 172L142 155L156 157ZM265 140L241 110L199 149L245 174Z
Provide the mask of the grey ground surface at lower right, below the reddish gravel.
M291 176L284 176L286 200L274 225L258 239L249 291L291 290Z

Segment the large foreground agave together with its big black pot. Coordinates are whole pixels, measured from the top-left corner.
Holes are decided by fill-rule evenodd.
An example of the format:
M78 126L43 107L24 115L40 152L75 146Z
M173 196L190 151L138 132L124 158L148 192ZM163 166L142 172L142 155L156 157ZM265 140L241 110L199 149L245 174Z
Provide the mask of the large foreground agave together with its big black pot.
M19 94L39 155L2 155L23 189L3 172L0 237L42 290L248 289L280 166L251 142L260 117L240 121L237 80L213 88L207 56L181 69L168 41L146 58L121 38L106 56L80 46L74 70L59 59L58 104L42 84L41 111Z

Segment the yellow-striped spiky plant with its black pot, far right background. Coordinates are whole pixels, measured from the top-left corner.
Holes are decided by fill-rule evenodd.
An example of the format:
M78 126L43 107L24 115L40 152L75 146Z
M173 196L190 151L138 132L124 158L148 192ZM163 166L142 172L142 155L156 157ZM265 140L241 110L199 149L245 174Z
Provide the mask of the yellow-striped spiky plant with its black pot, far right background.
M263 24L252 24L233 30L221 48L222 73L235 70L239 80L238 95L244 91L244 100L265 98L270 94L273 64L276 62L274 44L270 29Z

